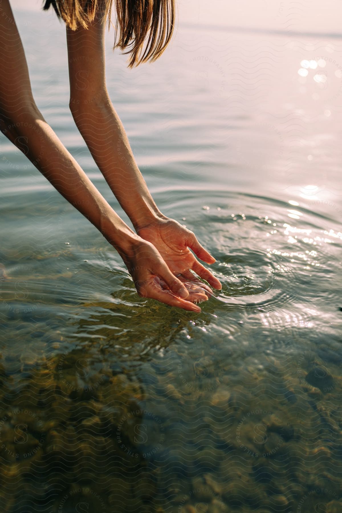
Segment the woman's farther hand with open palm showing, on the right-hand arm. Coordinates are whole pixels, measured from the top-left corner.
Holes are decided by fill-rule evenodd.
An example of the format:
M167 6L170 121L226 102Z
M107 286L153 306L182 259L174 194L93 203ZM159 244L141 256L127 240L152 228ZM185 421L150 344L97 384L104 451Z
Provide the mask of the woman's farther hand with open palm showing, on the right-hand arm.
M202 291L207 295L212 294L211 288L198 280L191 270L198 274L200 278L206 280L213 288L222 288L219 280L196 260L190 249L200 260L207 264L213 264L215 262L214 257L199 244L192 231L177 221L169 218L156 219L139 228L137 232L142 239L153 244L170 271L177 275L188 289L193 290L194 287L197 292Z

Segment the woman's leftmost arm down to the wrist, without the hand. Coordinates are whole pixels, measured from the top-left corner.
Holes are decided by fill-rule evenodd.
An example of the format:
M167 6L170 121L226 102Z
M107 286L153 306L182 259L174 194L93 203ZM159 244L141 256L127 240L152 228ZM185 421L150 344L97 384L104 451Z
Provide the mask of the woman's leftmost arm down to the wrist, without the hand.
M122 245L121 239L128 245L136 239L136 234L105 201L39 112L8 0L2 0L0 9L2 132L114 246L119 242Z

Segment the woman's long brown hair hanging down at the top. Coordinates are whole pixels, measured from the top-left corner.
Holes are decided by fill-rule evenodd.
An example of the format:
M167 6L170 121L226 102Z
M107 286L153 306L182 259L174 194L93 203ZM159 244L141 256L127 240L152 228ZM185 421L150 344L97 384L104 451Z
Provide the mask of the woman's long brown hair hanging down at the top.
M104 7L108 29L112 25L113 0L43 0L43 9L53 7L67 27L87 28L94 20L96 10ZM128 67L154 62L169 44L175 23L175 0L114 0L116 9L114 48L128 51ZM116 42L117 34L119 34ZM147 45L141 55L144 42Z

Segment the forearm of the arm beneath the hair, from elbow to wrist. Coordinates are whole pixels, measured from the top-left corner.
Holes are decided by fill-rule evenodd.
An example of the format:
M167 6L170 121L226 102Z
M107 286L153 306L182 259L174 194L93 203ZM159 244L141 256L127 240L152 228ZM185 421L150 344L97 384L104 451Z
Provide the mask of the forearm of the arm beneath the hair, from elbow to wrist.
M76 126L98 168L136 230L165 218L135 162L128 137L109 97L70 102Z

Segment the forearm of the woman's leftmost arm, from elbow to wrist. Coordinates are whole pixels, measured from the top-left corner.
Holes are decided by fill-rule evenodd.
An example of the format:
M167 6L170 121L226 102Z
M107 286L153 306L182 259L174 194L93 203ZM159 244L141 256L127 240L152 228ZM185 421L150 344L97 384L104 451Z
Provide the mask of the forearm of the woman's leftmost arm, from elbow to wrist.
M39 111L7 117L2 131L49 182L120 252L136 234L119 218Z

